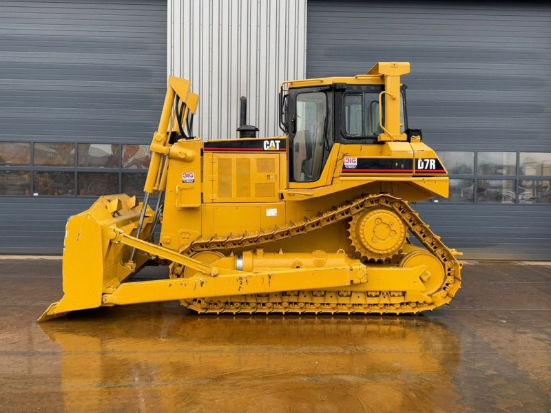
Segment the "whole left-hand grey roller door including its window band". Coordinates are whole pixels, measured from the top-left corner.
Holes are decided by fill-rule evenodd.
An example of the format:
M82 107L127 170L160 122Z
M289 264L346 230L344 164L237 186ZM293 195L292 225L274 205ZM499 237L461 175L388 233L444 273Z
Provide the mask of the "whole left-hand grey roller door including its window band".
M61 253L95 191L139 186L166 50L166 1L0 3L0 253Z

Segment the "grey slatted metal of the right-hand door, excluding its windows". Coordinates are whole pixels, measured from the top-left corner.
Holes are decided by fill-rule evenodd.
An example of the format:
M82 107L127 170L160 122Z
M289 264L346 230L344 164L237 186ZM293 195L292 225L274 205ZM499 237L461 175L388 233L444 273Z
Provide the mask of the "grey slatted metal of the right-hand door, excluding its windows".
M530 1L308 3L308 77L410 61L409 125L438 151L551 151L551 6ZM551 259L550 204L417 209L471 258Z

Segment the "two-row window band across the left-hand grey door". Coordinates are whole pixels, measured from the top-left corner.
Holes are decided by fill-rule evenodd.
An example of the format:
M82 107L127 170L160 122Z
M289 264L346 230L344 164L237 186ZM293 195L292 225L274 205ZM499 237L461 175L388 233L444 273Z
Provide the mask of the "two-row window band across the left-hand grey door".
M149 145L0 142L0 195L139 196L150 160Z

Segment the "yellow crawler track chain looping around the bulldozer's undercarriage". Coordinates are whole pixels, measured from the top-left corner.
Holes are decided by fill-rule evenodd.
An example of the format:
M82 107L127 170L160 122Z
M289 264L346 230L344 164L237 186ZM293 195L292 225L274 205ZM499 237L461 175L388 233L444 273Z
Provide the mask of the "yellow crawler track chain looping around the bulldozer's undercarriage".
M342 220L366 209L382 208L394 211L417 237L427 251L444 266L444 282L423 301L408 301L407 291L357 291L357 290L295 290L283 293L234 295L182 301L187 308L198 313L418 313L448 304L461 286L461 262L453 250L447 248L440 237L430 230L407 202L391 195L367 195L353 202L326 211L300 222L289 222L284 227L262 233L227 235L198 239L186 251L194 255L200 251L233 251L251 249L289 237L295 237ZM377 264L368 264L370 265ZM171 277L181 277L183 267L171 265ZM369 273L368 273L369 274Z

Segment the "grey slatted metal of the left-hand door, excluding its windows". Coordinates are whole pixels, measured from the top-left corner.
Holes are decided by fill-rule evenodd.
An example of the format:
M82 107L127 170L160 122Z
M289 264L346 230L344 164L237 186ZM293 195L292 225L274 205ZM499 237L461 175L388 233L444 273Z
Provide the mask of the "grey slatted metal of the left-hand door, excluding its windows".
M166 26L166 1L2 1L0 142L149 142ZM92 202L1 197L0 253L60 254L67 217Z

